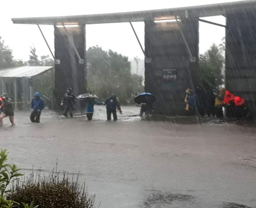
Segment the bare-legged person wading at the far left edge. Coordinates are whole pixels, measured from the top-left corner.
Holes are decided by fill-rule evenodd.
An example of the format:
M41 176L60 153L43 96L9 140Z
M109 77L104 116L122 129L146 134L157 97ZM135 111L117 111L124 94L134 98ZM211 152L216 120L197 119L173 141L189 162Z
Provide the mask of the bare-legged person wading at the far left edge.
M3 119L7 116L9 116L10 122L12 124L12 126L15 125L14 123L14 112L13 112L13 105L11 103L11 98L8 97L7 93L3 93L1 95L1 99L3 102L2 105L2 112L0 115L0 126L3 125Z

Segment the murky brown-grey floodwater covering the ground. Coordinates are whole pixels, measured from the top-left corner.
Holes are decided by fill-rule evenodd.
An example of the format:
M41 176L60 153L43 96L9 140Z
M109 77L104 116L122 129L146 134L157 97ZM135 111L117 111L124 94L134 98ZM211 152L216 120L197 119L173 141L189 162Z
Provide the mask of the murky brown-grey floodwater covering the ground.
M41 124L32 124L29 111L17 111L17 126L4 119L0 147L22 169L48 174L58 158L60 170L79 171L95 207L256 207L256 160L241 159L256 158L256 128L213 119L141 120L135 106L123 113L108 122L104 106L95 107L93 121L43 111Z

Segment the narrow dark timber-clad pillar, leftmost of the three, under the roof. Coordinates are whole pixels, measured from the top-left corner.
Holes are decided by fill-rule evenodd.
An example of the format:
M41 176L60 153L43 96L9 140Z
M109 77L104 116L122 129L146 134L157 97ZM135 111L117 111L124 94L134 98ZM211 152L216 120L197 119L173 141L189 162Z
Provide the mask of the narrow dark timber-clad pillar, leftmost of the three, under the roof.
M67 87L71 87L76 96L85 93L85 25L66 28L54 26L54 46L56 59L54 109L60 109L61 98ZM79 105L77 107L79 108Z

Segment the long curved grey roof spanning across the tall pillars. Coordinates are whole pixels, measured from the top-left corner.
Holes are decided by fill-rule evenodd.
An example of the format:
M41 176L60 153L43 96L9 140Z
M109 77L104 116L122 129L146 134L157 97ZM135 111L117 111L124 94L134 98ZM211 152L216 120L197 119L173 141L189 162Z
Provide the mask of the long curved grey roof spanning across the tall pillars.
M221 4L208 4L201 6L109 14L12 18L12 21L15 24L100 24L115 22L138 22L144 20L154 20L154 18L165 18L175 15L189 17L207 17L215 15L225 15L227 12L237 12L243 9L256 9L256 1L245 0L238 2L226 2Z

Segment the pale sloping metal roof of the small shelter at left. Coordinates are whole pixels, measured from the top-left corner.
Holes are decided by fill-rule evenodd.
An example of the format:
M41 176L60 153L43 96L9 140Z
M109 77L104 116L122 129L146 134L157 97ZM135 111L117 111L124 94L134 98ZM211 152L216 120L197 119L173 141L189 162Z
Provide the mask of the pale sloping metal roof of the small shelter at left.
M16 67L0 70L0 77L32 77L52 69L53 67Z

